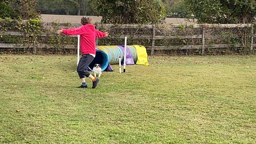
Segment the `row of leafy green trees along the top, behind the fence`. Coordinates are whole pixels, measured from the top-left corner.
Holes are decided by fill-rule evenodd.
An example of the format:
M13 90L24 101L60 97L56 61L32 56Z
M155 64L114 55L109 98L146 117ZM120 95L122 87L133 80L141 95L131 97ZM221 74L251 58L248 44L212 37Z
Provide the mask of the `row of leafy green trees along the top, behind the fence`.
M96 15L103 23L155 24L166 17L198 23L252 23L255 0L0 0L0 18L29 19L39 14Z

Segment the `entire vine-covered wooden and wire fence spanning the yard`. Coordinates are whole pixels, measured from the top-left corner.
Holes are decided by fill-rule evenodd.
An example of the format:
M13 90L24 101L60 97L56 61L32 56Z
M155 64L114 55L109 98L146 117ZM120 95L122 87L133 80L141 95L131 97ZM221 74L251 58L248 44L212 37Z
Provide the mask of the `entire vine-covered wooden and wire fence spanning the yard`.
M71 23L41 22L39 19L2 20L0 52L60 53L77 52L77 36L56 34ZM95 24L110 36L96 39L96 45L143 45L154 54L250 54L256 51L256 24L196 25L112 25Z

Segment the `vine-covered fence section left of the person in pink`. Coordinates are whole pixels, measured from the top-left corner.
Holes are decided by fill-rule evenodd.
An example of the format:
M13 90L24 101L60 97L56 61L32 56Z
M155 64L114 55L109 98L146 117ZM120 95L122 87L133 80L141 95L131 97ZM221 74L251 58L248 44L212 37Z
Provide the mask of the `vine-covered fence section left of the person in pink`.
M57 34L61 28L77 24L8 20L0 23L0 52L2 53L76 53L77 36Z

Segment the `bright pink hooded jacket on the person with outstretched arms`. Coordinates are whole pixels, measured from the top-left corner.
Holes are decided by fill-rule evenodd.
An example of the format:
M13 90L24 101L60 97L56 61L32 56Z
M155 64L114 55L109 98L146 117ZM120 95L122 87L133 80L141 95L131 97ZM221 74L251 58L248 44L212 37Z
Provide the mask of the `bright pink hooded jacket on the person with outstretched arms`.
M80 52L83 54L96 54L95 38L106 36L106 33L96 30L93 24L63 29L62 33L66 35L80 35Z

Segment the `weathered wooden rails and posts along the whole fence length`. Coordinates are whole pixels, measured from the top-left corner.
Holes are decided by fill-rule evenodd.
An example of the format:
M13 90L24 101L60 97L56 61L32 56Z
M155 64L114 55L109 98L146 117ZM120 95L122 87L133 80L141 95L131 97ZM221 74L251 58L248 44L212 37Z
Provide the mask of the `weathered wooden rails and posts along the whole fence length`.
M43 23L44 25L47 24L46 22ZM1 25L1 24L0 24ZM77 25L77 24L76 24ZM206 48L230 48L230 47L236 47L236 48L242 48L245 47L245 44L248 44L244 42L244 39L249 39L249 49L250 52L254 52L254 47L256 47L255 44L255 38L256 38L256 33L255 33L255 26L253 24L195 24L195 25L169 25L171 27L169 30L173 29L186 29L186 28L199 28L200 33L196 33L192 35L177 35L177 34L160 34L159 35L159 29L157 29L157 25L111 25L111 24L97 24L96 28L97 29L147 29L151 33L150 34L120 34L120 33L111 33L108 39L124 39L125 36L127 36L127 39L144 39L144 40L150 40L151 44L150 45L145 45L147 47L150 47L149 50L151 50L150 54L154 55L154 52L157 50L176 50L176 49L197 49L201 50L201 54L205 54ZM208 44L209 39L221 39L223 38L223 35L220 34L212 34L211 32L214 29L220 29L220 28L250 28L250 36L245 36L243 34L225 34L225 37L231 37L232 38L237 38L241 39L241 42L232 44ZM162 30L163 31L163 30ZM161 32L161 31L160 31ZM26 33L26 32L21 32L21 31L1 31L0 30L0 36L24 36L24 35L31 35L31 33ZM42 32L40 34L41 37L56 37L57 34L53 32ZM69 37L77 37L76 35L74 36L69 36ZM180 45L156 45L157 40L184 40L184 39L194 39L198 40L200 44L180 44ZM99 40L96 39L96 45L99 43ZM13 43L5 43L4 40L0 41L0 50L3 48L33 48L34 52L36 52L37 48L45 48L45 47L54 47L56 44L40 44L36 43L36 40L34 40L33 43L31 44L13 44ZM62 48L65 49L76 49L77 45L76 44L61 44L60 45Z

